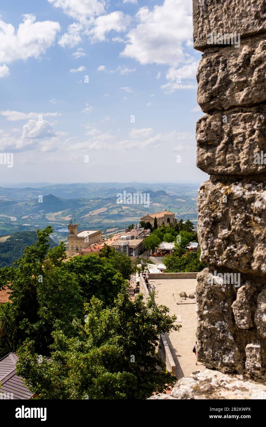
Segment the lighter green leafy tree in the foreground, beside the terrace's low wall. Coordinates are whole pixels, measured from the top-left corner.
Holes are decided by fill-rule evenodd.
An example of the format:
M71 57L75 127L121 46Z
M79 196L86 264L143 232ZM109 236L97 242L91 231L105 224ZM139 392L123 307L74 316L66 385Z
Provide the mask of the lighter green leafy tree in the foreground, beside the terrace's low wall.
M126 289L114 307L92 298L85 325L74 322L75 337L53 333L50 362L37 363L29 339L19 351L18 375L41 399L146 399L176 381L156 355L158 336L179 330L167 307L147 304ZM157 366L162 370L158 370Z

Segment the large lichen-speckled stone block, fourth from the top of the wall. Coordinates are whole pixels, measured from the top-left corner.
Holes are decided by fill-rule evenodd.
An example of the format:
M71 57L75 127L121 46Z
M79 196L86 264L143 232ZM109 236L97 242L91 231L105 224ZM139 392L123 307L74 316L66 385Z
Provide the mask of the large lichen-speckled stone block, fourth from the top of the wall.
M266 273L265 182L213 177L199 188L198 211L202 262Z

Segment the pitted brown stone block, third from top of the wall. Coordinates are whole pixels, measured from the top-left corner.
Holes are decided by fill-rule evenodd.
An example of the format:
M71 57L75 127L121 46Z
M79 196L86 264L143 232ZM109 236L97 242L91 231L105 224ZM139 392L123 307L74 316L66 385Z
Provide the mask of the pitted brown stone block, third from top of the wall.
M257 164L254 157L261 151L266 153L264 105L249 108L249 111L206 114L198 120L196 139L197 166L206 173L248 175L266 172L264 158Z

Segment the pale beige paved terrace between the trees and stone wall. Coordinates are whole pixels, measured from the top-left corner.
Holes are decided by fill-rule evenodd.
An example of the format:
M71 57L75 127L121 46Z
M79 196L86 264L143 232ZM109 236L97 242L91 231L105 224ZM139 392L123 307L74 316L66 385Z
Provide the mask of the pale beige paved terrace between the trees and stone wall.
M192 351L196 342L196 304L178 305L173 296L174 293L177 301L179 301L178 294L180 292L186 292L187 296L195 292L196 279L150 279L149 284L155 285L156 304L166 305L170 309L170 314L177 316L177 323L182 325L179 332L172 331L170 333L171 343L169 342L169 346L176 365L176 377L178 379L188 377L196 369L204 369L201 363L196 366L196 356Z

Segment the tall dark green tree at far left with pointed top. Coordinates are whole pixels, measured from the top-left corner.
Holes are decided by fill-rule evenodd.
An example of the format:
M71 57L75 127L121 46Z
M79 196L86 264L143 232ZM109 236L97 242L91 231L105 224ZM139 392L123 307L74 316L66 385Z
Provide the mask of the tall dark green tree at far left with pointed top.
M27 338L36 351L47 353L56 320L68 334L84 308L75 276L64 269L65 246L49 250L51 226L37 230L37 243L26 247L15 267L0 269L0 287L7 286L10 301L0 304L0 357L16 351Z

